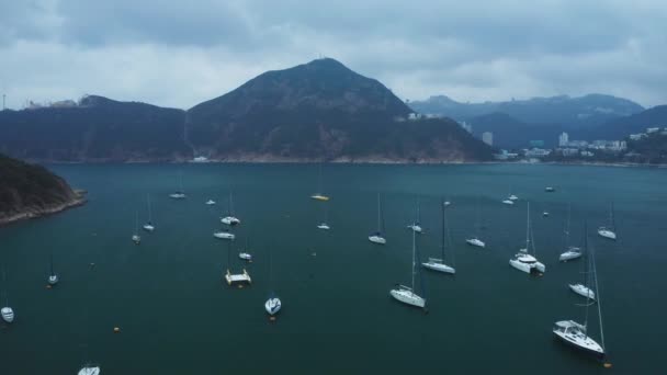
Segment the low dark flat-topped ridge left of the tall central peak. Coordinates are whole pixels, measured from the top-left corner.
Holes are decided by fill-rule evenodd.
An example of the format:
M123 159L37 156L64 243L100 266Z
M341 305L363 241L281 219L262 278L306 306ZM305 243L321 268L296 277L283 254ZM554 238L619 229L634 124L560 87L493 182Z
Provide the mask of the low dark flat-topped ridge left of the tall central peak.
M0 152L32 160L172 160L191 155L185 112L89 95L65 106L0 112Z

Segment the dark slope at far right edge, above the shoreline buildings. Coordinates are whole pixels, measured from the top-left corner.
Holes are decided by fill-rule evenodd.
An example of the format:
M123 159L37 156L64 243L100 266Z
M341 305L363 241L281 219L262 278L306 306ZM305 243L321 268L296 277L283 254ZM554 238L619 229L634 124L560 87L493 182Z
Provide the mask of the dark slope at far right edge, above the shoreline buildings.
M610 120L590 128L590 139L623 139L631 134L645 133L647 127L667 127L667 105L657 105L646 111Z

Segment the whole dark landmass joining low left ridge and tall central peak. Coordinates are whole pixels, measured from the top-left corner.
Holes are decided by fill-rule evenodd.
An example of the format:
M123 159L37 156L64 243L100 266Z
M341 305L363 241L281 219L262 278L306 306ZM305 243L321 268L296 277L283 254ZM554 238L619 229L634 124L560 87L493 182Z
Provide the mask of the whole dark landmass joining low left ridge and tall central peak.
M87 96L0 112L0 151L49 161L459 162L491 148L448 118L411 110L334 59L268 71L189 111Z

